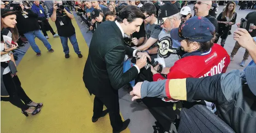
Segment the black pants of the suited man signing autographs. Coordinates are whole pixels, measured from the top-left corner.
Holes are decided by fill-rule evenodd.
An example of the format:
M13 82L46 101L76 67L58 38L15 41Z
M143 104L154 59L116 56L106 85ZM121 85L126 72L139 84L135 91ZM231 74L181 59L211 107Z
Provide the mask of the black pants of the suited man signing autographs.
M114 90L113 93L106 94L104 97L94 98L93 103L93 117L100 117L105 105L109 111L109 117L113 131L118 131L122 128L122 118L119 110L118 91Z

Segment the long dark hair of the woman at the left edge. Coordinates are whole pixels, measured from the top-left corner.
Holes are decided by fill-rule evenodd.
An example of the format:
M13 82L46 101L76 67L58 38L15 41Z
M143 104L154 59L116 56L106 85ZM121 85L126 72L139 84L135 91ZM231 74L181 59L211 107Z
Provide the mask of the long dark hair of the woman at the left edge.
M4 28L3 18L5 18L6 16L9 16L9 15L13 15L13 14L16 15L16 12L12 11L10 9L1 9L1 30L3 30L3 28ZM16 42L19 39L19 33L18 33L18 29L17 29L16 25L14 28L8 28L8 29L12 33L12 41Z

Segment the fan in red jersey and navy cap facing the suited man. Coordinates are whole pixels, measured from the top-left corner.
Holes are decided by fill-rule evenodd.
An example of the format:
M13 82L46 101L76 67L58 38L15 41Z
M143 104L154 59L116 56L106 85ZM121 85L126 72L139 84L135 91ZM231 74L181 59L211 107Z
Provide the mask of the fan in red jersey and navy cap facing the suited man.
M170 34L180 41L181 50L186 54L169 70L163 68L161 73L167 74L168 79L202 78L226 72L230 57L224 48L213 43L215 28L207 18L192 17ZM151 71L154 81L166 79L156 68Z

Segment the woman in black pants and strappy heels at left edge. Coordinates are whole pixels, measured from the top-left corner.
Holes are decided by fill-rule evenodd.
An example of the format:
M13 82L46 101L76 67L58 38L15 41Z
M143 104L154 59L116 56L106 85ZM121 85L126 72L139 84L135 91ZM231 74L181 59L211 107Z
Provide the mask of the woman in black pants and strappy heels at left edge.
M15 11L1 9L1 101L9 101L25 116L35 115L41 111L43 104L33 102L21 87L12 54L12 50L17 48L14 42L19 37L16 23Z

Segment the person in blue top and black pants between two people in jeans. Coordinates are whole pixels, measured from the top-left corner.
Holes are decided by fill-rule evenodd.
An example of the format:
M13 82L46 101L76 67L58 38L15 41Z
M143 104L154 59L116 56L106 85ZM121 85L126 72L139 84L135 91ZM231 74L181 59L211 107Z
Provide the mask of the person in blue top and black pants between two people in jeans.
M40 26L41 26L42 32L44 33L44 36L46 37L46 39L49 39L47 35L47 29L49 29L53 37L58 37L58 34L53 31L51 25L49 24L47 15L43 7L39 3L40 3L39 1L35 1L31 10L38 15Z

